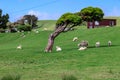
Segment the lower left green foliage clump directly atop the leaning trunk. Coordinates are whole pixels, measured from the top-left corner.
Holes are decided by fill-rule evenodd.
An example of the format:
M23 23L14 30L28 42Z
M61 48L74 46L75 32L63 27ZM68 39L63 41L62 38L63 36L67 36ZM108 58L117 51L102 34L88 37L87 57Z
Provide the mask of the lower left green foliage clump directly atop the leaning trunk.
M82 22L82 19L80 16L75 15L73 13L65 13L63 14L58 20L56 25L64 25L64 24L70 24L70 25L80 25Z

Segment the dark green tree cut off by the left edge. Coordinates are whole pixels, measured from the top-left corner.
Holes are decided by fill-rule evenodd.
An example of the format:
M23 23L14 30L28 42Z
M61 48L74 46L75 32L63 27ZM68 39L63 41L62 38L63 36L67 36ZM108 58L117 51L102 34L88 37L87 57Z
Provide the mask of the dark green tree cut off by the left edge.
M9 22L9 15L4 14L2 15L2 10L0 9L0 28L7 28L6 23Z

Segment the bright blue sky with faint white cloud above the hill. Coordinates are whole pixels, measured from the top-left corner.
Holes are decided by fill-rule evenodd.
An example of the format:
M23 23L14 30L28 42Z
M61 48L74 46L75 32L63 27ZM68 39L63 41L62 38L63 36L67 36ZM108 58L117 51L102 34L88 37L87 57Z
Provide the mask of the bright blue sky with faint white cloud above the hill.
M25 14L34 14L39 20L58 19L88 6L101 8L105 16L120 16L120 0L0 0L0 9L9 14L10 21Z

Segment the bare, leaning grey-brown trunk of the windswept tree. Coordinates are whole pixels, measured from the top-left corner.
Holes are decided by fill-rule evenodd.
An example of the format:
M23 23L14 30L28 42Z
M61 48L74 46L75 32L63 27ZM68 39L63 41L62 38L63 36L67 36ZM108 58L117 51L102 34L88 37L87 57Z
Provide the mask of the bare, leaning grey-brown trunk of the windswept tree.
M64 26L60 26L58 27L52 34L50 34L49 39L48 39L48 44L47 47L45 48L45 52L52 52L52 48L54 45L54 40L55 38L64 31L64 29L66 28L67 24L65 24Z

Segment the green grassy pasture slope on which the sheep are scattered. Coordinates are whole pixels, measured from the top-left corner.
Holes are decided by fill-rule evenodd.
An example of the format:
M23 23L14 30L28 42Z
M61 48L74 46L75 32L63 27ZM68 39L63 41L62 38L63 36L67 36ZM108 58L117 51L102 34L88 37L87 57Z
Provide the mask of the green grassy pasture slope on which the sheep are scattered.
M47 27L54 21L50 21L51 25L44 23ZM45 53L51 32L25 32L25 37L21 36L23 33L0 34L0 78L6 74L20 74L21 80L62 80L64 74L72 74L78 80L120 79L120 27L79 27L60 34L53 52ZM72 42L75 36L79 41ZM81 40L89 41L85 51L78 51L77 44ZM108 40L112 41L111 47L107 46ZM94 47L96 41L101 42L100 48ZM23 49L16 49L19 44ZM61 52L55 51L56 45L62 47Z

